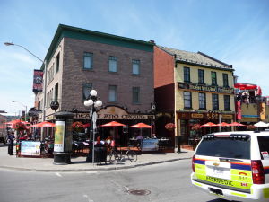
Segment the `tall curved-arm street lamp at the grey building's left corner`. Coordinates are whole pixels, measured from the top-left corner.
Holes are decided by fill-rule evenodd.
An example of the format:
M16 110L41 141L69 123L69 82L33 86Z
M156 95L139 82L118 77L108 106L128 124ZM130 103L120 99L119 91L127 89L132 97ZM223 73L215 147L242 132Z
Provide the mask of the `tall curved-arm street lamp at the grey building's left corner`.
M45 111L45 107L46 107L46 91L47 91L47 60L42 60L40 59L39 57L37 57L35 54L33 54L32 52L30 52L29 49L27 48L24 48L22 47L21 45L19 44L14 44L14 43L11 43L11 42L4 42L4 45L5 46L17 46L17 47L20 47L20 48L23 48L24 50L26 50L27 52L30 53L30 55L32 55L33 57L36 57L37 59L39 59L40 62L42 62L42 66L44 65L44 93L43 93L43 116L42 116L42 120L45 121L45 116L46 116L46 111ZM25 111L26 113L26 111ZM43 135L43 134L42 134Z

